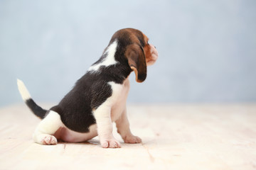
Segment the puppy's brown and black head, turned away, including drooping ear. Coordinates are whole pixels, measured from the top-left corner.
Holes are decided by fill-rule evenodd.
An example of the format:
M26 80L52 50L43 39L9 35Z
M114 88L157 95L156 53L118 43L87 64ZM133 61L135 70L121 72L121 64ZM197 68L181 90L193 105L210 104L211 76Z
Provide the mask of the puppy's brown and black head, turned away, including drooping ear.
M143 82L146 79L146 66L154 64L158 58L156 47L149 44L149 38L144 33L133 28L118 30L111 41L116 39L129 67L136 74L136 81Z

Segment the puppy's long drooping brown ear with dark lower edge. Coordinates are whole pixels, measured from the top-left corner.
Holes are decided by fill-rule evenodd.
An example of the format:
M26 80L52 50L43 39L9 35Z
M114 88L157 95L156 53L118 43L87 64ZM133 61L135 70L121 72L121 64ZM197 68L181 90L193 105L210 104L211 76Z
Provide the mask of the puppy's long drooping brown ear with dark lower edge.
M143 48L137 44L128 45L125 51L129 67L135 72L136 81L141 83L146 79L146 58Z

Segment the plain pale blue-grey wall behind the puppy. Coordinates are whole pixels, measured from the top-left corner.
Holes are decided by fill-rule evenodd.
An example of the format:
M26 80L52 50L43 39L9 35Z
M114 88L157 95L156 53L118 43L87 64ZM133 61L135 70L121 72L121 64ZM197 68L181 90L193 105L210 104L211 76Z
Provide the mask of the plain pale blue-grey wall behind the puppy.
M256 1L0 1L0 106L60 101L120 28L159 51L130 103L256 101Z

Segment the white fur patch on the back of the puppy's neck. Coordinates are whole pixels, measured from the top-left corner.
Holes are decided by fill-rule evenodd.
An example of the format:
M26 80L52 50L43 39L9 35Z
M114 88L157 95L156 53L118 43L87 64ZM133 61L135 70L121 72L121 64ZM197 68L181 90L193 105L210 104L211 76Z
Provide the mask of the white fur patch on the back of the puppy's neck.
M117 61L114 60L114 54L116 51L117 51L117 40L112 42L112 44L109 47L107 47L107 50L104 53L104 55L107 53L107 57L105 57L105 59L102 62L92 65L88 71L97 71L98 69L100 69L101 66L107 67L113 64L117 64Z

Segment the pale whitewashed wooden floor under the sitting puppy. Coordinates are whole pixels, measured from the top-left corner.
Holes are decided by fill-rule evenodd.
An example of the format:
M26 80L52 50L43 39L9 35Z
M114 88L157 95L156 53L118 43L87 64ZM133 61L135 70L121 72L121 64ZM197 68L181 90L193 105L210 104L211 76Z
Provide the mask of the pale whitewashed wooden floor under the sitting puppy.
M128 112L143 143L102 149L97 137L35 144L40 120L25 105L1 108L0 169L256 169L256 103L130 105Z

